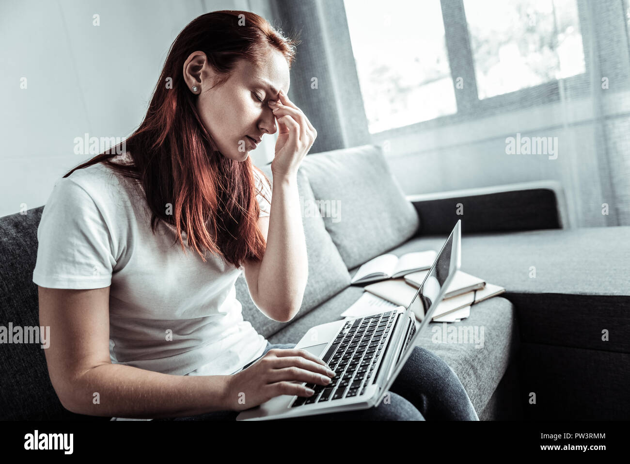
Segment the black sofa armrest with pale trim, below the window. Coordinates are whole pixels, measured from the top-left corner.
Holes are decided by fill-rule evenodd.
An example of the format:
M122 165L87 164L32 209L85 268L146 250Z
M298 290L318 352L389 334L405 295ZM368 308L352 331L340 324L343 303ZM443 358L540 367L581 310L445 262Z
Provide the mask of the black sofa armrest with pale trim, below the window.
M563 188L555 180L407 195L420 217L418 235L567 228ZM458 214L459 213L459 214Z

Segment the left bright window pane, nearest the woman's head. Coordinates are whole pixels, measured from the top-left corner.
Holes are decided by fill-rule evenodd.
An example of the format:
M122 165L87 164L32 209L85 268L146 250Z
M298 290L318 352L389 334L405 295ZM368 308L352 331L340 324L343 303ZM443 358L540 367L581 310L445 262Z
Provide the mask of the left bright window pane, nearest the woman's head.
M369 131L457 112L439 0L345 0Z

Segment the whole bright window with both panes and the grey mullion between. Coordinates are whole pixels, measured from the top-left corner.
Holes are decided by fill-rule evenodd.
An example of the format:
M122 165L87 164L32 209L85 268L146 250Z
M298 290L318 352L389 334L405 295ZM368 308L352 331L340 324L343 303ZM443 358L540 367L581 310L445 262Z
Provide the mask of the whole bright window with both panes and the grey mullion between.
M344 6L370 134L548 102L558 79L585 79L578 0Z

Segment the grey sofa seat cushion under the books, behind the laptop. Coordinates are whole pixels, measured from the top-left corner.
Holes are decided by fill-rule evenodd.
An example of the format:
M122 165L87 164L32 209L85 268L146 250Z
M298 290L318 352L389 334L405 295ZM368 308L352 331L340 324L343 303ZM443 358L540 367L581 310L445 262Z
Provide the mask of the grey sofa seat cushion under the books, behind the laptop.
M362 287L351 286L335 297L321 304L310 313L278 331L269 341L272 343L299 342L304 333L315 325L341 319L340 314L357 301L364 292ZM443 330L441 323L429 323L418 338L417 345L437 354L455 371L466 388L475 410L483 410L496 386L499 384L508 364L515 359L518 347L518 330L515 310L505 298L496 297L473 306L469 318L449 327L478 327L483 333L483 345L438 343L437 331ZM481 328L483 327L483 332ZM458 329L460 330L460 329ZM441 333L441 332L440 332ZM449 339L446 340L447 342Z

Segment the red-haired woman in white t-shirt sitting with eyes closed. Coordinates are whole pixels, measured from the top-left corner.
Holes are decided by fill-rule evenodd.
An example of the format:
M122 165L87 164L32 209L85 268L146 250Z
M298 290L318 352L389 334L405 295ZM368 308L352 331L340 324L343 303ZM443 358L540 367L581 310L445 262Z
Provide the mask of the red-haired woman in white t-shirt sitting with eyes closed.
M55 184L33 281L66 409L234 419L278 395L309 395L293 381L326 385L334 375L295 345L269 344L235 298L242 270L268 317L287 322L302 303L297 170L316 131L287 98L294 54L295 42L253 13L198 17L169 50L120 154ZM271 192L248 152L277 130ZM415 349L394 386L386 406L341 418L477 419L457 376L427 351Z

